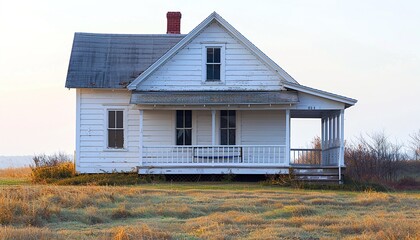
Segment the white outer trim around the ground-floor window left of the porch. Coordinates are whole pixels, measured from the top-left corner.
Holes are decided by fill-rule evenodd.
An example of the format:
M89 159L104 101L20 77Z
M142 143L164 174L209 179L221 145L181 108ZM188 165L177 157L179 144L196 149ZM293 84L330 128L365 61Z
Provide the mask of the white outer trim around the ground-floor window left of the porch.
M108 111L123 111L123 129L124 129L124 145L123 148L109 148L108 147ZM103 151L104 152L127 152L128 151L128 108L127 107L105 107L104 108L104 141Z

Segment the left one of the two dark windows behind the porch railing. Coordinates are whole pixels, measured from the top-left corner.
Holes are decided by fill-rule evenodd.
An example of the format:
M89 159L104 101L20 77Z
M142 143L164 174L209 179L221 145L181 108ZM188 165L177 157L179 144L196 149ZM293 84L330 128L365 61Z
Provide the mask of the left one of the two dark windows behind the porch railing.
M191 145L192 112L176 111L176 145Z

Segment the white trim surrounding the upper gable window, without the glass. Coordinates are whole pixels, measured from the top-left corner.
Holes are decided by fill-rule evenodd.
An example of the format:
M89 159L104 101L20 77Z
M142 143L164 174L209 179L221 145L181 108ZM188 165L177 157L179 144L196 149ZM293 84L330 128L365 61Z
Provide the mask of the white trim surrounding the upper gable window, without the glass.
M207 81L207 48L220 48L220 81ZM225 84L226 44L206 43L201 45L201 83L206 85Z

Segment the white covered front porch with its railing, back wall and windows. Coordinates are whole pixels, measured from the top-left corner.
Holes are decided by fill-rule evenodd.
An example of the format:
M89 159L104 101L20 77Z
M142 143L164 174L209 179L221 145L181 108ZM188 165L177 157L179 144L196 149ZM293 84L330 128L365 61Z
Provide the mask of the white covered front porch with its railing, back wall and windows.
M132 98L140 111L140 174L288 174L290 168L317 168L336 169L341 180L344 109L280 101L243 104L236 98L229 99L235 104L223 104L206 96L196 104L174 105L175 96L147 102L151 96ZM320 120L319 148L291 147L293 118Z

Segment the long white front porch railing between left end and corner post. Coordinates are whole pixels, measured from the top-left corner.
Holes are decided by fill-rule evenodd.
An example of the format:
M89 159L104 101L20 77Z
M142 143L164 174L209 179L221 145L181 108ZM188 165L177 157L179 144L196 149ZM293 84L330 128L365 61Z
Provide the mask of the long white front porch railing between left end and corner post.
M276 165L287 166L284 145L143 146L143 166Z

